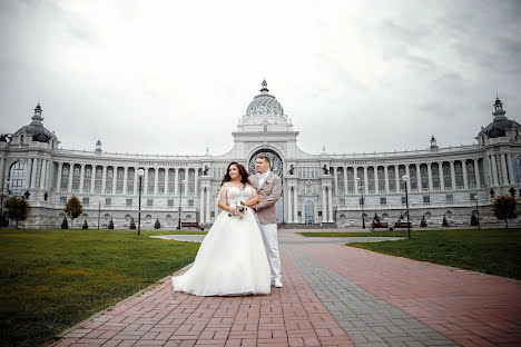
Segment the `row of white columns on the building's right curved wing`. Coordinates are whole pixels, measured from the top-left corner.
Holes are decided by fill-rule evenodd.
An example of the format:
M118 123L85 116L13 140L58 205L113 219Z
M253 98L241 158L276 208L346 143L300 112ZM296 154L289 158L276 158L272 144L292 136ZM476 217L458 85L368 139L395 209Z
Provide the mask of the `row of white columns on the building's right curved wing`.
M509 153L510 156L510 153ZM480 177L480 170L479 170L479 159L471 159L473 160L473 163L474 163L474 175L475 175L475 186L476 188L481 188L481 177ZM426 167L427 167L427 185L429 187L422 187L422 179L421 179L421 170L420 170L420 163L414 163L415 167L416 167L416 182L417 182L417 189L419 190L423 190L423 188L429 188L429 190L434 190L434 184L433 184L433 176L432 176L432 165L435 163L438 165L438 168L439 168L439 175L440 175L440 189L441 190L445 190L445 182L444 182L444 175L443 175L443 162L446 162L445 161L438 161L438 162L427 162L426 163ZM449 165L450 165L450 169L451 169L451 184L452 184L452 187L453 189L455 189L456 187L456 181L455 181L455 170L454 170L454 160L451 160L451 161L448 161ZM469 178L468 178L468 172L466 172L466 160L461 160L462 162L462 174L463 174L463 188L464 189L469 189ZM510 166L511 165L511 161L510 162ZM407 175L407 177L411 179L411 171L410 171L410 166L413 165L413 163L397 163L397 165L391 165L391 167L394 167L394 179L395 179L395 187L396 187L396 191L400 189L400 180L401 180L401 177L399 175L400 170L399 170L399 167L400 166L404 166L405 167L405 175ZM364 194L370 194L370 190L368 190L368 185L367 185L367 181L368 181L368 178L367 178L367 169L370 168L371 166L363 166L363 177L364 177ZM377 178L377 168L381 167L381 166L372 166L373 168L373 172L375 172L375 176L374 176L374 190L376 194L380 192L380 181L379 181L379 178ZM385 189L384 191L385 192L391 192L390 191L390 180L389 180L389 167L390 165L383 165L382 166L384 168L384 185L385 185ZM333 167L333 170L334 170L334 180L335 180L335 195L338 195L338 176L337 176L337 169L340 167ZM360 167L357 166L353 166L353 167L342 167L343 168L343 172L344 172L344 192L346 194L347 192L347 169L348 168L353 168L353 172L355 172L354 175L354 194L355 195L358 195L360 191L356 187L356 177L357 177L357 170ZM513 172L513 171L512 171ZM512 176L513 177L513 176Z

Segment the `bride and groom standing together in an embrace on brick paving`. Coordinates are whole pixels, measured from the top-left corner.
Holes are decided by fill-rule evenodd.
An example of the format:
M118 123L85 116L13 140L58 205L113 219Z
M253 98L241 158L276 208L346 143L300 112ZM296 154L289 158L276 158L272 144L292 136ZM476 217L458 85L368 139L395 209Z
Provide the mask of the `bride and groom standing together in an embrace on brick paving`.
M257 174L230 162L220 184L223 211L206 235L194 265L173 277L174 290L197 296L269 294L282 288L275 204L281 178L269 171L269 159L259 156ZM269 255L266 257L266 249Z

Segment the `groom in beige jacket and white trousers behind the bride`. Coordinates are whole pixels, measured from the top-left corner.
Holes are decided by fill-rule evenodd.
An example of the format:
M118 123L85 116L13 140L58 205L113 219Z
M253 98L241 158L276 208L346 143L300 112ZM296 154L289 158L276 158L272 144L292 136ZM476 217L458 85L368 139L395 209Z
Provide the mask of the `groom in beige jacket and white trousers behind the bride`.
M282 288L281 281L281 257L278 255L277 238L277 214L275 204L281 198L282 181L278 175L269 171L269 158L259 156L255 163L257 174L249 180L257 189L260 201L255 205L257 210L258 225L264 239L264 245L268 250L269 267L272 269L272 284Z

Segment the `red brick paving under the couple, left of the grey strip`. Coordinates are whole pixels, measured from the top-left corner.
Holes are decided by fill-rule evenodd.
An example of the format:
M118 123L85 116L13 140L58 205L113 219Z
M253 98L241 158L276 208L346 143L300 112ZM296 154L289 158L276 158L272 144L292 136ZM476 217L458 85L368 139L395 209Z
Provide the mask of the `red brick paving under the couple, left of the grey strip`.
M196 297L169 279L68 331L56 346L353 346L282 252L284 288Z

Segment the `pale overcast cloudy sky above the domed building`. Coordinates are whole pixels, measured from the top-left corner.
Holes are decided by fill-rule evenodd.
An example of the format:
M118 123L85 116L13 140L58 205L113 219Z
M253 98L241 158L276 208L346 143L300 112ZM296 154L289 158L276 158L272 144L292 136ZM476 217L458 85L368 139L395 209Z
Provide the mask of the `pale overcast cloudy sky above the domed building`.
M305 151L474 142L521 121L521 1L0 1L0 132L218 155L266 78Z

